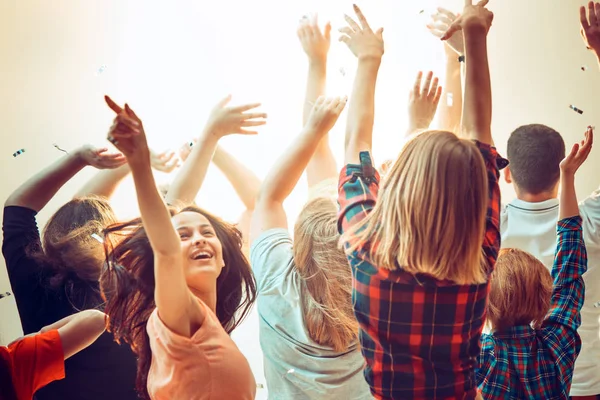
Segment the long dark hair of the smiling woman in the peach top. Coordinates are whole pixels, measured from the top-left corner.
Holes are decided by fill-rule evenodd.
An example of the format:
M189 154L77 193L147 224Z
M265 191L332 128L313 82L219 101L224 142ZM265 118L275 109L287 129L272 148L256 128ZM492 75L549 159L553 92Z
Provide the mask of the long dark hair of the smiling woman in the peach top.
M254 275L242 252L242 234L233 225L196 206L179 211L171 209L171 216L182 212L202 214L221 241L226 267L217 278L216 314L225 331L231 333L248 315L256 299ZM107 263L100 287L109 316L108 330L136 353L136 388L142 398L150 399L146 381L152 354L146 323L156 308L154 254L139 218L110 226L104 235Z

